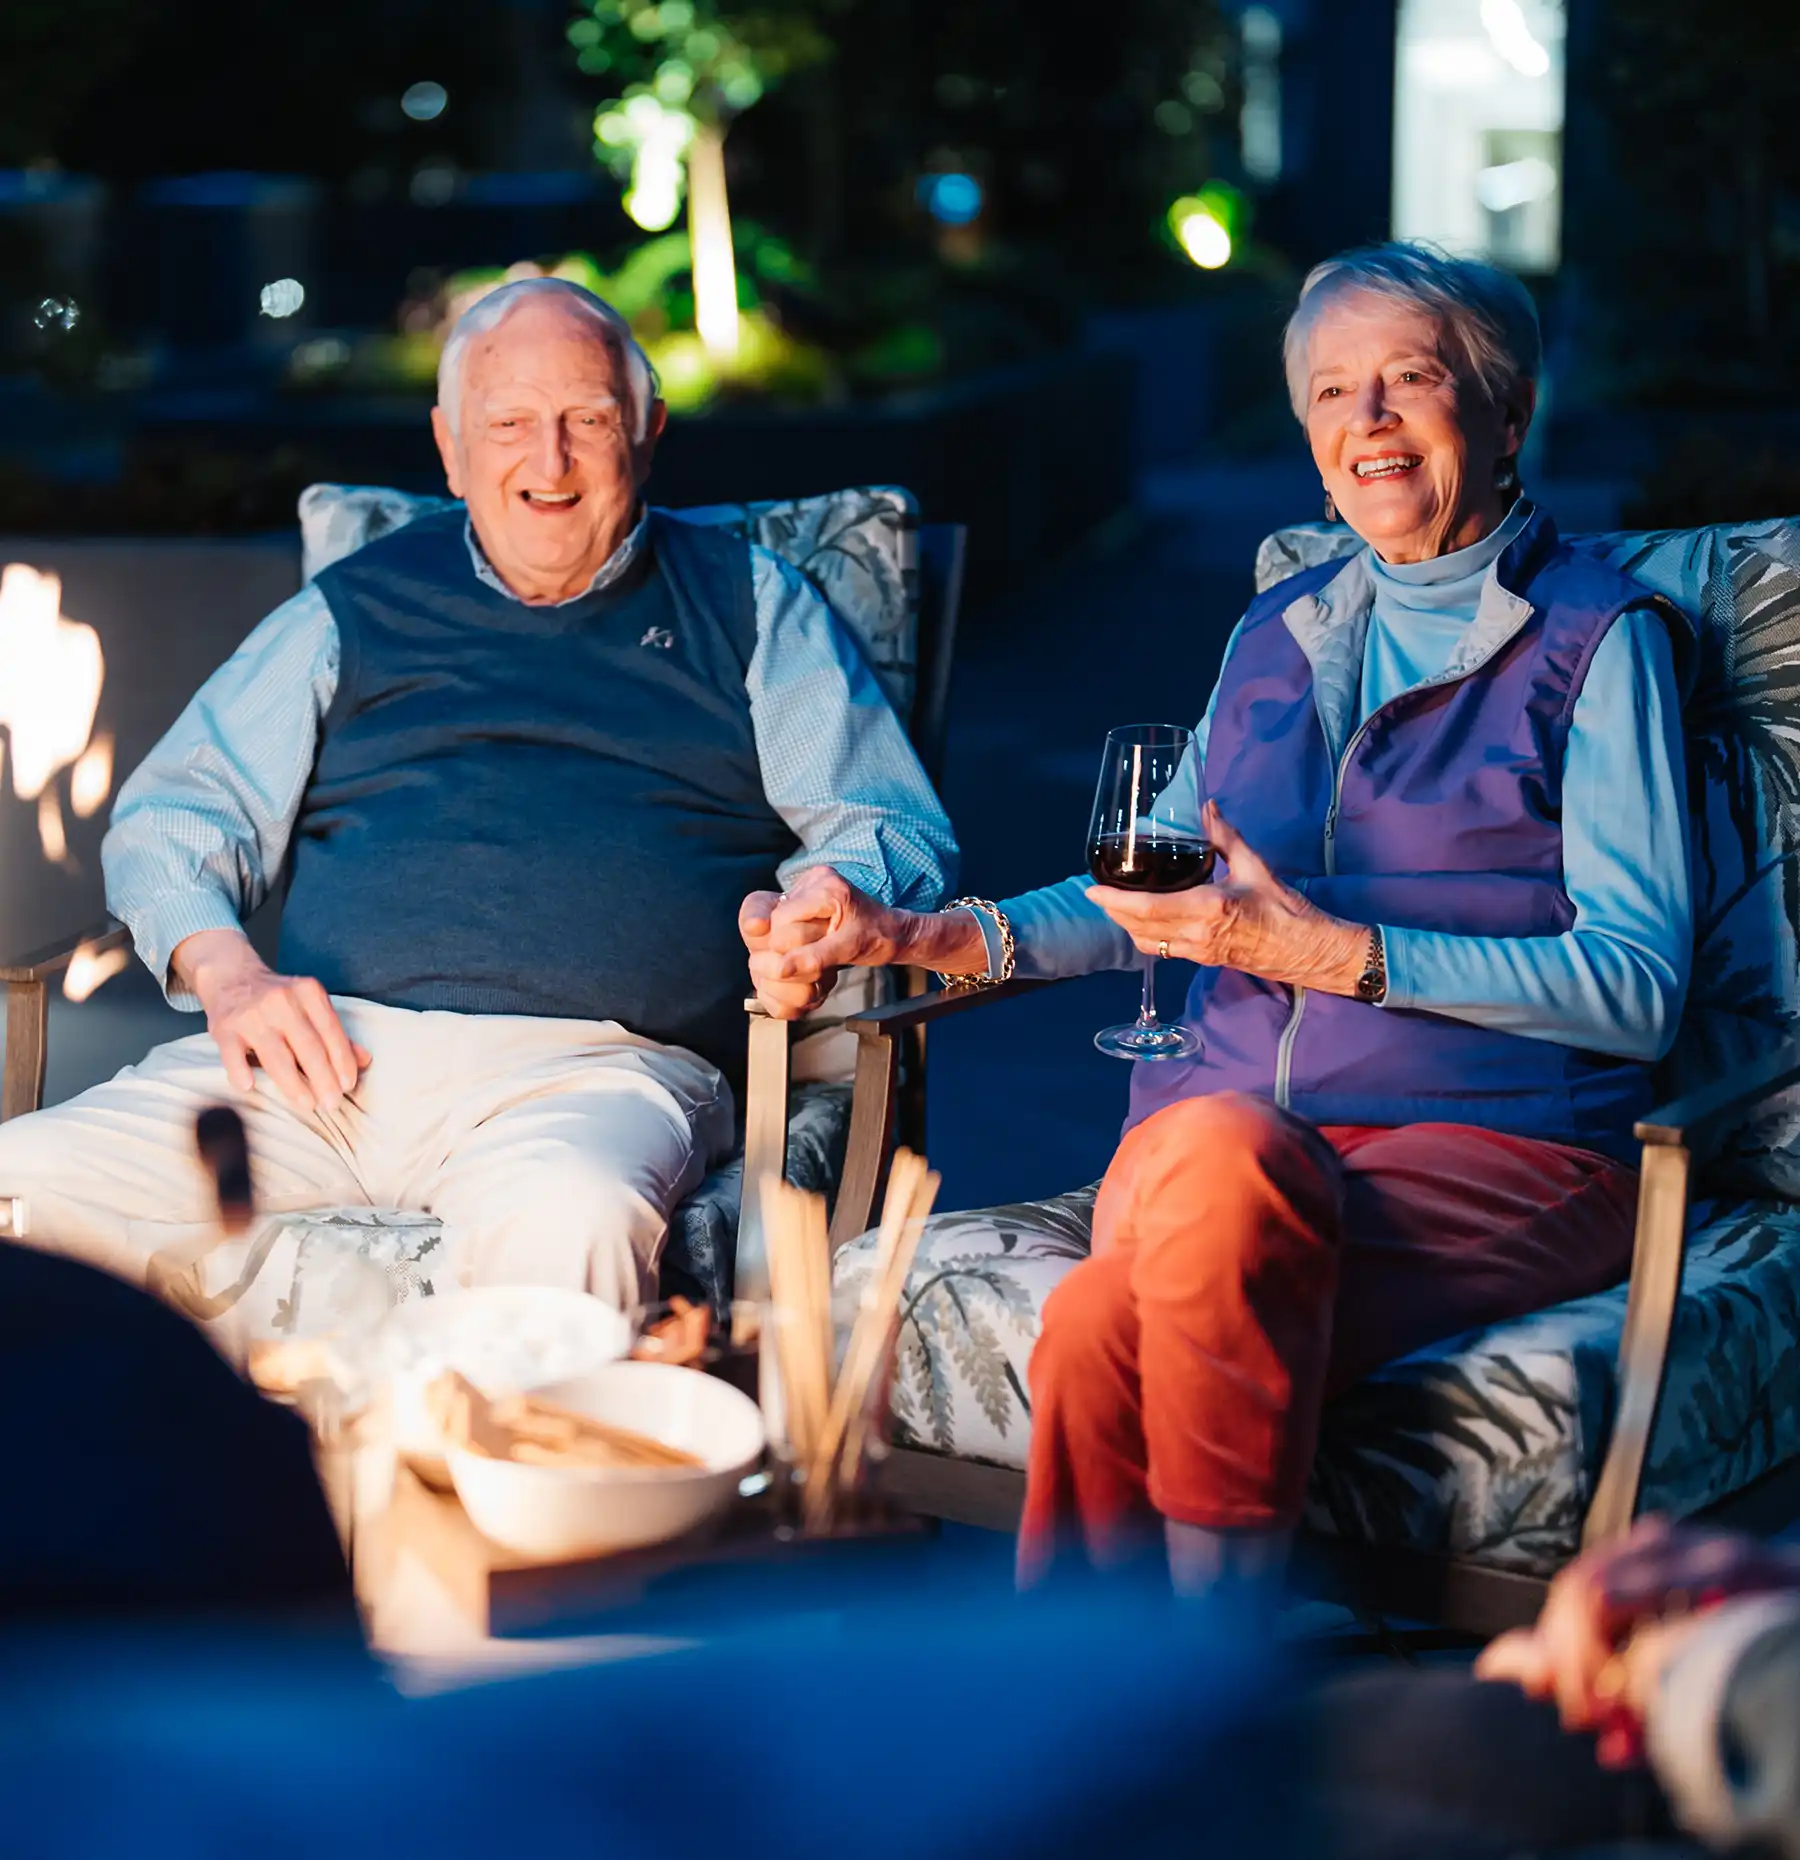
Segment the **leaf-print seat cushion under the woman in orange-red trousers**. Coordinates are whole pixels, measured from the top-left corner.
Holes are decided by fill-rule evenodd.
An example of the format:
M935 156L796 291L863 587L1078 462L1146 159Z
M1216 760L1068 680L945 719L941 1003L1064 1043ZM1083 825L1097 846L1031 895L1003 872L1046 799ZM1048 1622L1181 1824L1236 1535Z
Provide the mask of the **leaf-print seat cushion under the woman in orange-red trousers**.
M1023 1468L1038 1313L1088 1256L1090 1189L937 1215L907 1283L902 1445ZM874 1237L839 1256L859 1287ZM1625 1287L1389 1363L1324 1417L1307 1521L1549 1574L1581 1538L1616 1393ZM1800 1209L1700 1205L1644 1503L1688 1514L1800 1453Z

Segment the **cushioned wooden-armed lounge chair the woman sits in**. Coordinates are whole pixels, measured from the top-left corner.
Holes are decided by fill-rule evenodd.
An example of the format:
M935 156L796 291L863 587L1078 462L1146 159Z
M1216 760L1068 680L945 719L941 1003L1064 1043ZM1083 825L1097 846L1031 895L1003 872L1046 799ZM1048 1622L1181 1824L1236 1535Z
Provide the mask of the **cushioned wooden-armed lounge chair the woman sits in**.
M1800 1096L1781 1096L1800 1081L1800 521L1577 541L1700 629L1687 707L1698 947L1668 1101L1638 1125L1631 1283L1419 1350L1335 1401L1296 1557L1318 1594L1471 1633L1530 1620L1545 1579L1638 1510L1750 1529L1800 1516ZM1277 532L1257 586L1354 547L1337 526ZM870 1267L857 1235L900 1042L1039 986L932 993L850 1021L861 1053L831 1224L840 1285ZM751 1038L762 1055L783 1030L762 1021ZM917 1510L1017 1520L1026 1360L1043 1300L1088 1252L1093 1192L932 1220L889 1466Z

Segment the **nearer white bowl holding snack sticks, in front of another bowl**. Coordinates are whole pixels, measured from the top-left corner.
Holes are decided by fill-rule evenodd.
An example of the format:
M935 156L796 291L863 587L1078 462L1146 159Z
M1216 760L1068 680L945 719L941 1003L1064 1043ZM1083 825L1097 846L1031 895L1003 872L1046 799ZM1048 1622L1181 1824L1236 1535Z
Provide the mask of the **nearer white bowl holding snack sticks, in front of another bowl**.
M450 1447L474 1527L543 1562L664 1544L718 1516L762 1455L762 1415L727 1382L673 1363L612 1363L537 1391L576 1414L649 1434L703 1462L668 1471L521 1466Z

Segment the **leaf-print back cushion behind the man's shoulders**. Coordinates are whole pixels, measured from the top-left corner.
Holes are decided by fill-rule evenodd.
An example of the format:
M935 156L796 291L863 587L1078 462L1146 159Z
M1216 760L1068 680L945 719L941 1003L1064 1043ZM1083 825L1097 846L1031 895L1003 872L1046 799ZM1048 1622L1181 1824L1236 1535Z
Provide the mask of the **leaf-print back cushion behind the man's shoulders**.
M299 495L301 577L312 580L389 530L450 508L454 498L383 485L309 485ZM708 504L681 515L731 528L798 567L855 636L900 718L911 718L919 666L919 506L911 493L859 485L766 504ZM889 995L885 971L846 971L831 997L801 1023L794 1077L848 1079L855 1070L855 1040L839 1029Z

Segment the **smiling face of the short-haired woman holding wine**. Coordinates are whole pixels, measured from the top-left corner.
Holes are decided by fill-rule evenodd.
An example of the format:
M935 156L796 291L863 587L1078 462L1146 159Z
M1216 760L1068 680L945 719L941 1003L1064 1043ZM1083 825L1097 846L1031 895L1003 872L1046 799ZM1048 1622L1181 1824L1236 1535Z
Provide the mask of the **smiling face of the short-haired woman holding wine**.
M1465 549L1506 512L1495 467L1519 450L1530 405L1491 405L1445 350L1436 318L1367 290L1320 305L1307 333L1313 463L1383 562Z

